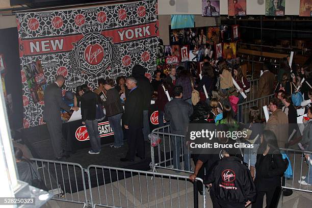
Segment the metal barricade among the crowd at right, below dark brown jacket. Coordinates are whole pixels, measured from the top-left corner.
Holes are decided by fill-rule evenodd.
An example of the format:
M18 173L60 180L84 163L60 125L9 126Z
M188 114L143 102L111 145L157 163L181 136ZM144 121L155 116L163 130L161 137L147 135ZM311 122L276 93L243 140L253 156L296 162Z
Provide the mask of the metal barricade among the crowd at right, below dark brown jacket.
M260 109L261 118L264 118L264 112L262 110L262 107L268 105L269 100L272 97L274 97L274 94L240 103L237 110L237 121L240 123L248 122L249 110L251 107L254 106Z

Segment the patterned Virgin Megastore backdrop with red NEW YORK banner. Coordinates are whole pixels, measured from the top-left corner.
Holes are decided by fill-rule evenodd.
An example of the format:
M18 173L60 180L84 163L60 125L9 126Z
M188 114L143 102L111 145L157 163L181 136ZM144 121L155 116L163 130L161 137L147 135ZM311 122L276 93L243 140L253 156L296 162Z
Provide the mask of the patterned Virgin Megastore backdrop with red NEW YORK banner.
M98 77L128 76L135 64L156 68L156 0L84 9L18 13L24 128L43 124L43 91L56 74L63 93Z

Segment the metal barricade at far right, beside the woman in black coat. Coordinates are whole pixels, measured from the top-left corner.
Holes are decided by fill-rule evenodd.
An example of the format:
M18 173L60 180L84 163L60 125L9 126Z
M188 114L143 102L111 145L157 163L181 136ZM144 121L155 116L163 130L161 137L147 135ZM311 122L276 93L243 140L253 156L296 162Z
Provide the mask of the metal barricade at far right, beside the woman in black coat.
M283 177L282 188L312 193L312 152L284 148L281 148L281 152L288 155L289 165L293 170L293 178ZM309 157L310 162L305 155ZM309 185L299 184L300 180L306 181Z

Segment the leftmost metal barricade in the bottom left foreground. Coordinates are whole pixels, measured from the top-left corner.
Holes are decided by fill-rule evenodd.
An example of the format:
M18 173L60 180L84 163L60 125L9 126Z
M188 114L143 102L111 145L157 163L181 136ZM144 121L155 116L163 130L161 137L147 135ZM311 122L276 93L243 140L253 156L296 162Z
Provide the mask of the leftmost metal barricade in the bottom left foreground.
M88 206L85 171L80 164L31 159L40 178L54 196L51 199Z

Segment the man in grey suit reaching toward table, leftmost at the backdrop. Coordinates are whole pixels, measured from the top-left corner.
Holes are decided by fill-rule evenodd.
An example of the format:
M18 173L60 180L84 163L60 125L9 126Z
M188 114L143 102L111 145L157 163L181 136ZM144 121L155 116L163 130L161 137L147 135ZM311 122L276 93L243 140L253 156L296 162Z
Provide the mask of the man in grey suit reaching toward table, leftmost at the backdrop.
M62 100L62 86L65 83L64 76L58 75L56 81L44 90L44 111L43 118L46 122L54 155L57 160L66 159L69 156L63 155L62 148L62 120L61 109L69 112L70 110L77 111L78 107L67 106Z

